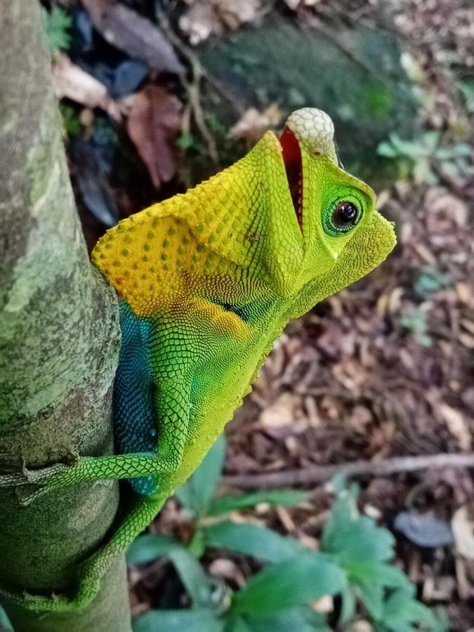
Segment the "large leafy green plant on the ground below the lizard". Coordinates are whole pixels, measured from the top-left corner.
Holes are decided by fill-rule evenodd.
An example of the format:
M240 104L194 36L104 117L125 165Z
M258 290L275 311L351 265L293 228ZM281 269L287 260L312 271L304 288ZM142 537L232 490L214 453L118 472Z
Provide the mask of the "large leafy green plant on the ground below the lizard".
M192 608L147 612L134 620L134 632L327 632L331 628L326 617L308 606L324 595L341 595L341 629L348 630L355 620L357 604L378 632L445 629L416 601L409 579L389 563L393 535L360 515L358 488L347 487L343 479L334 480L336 501L323 528L320 551L265 527L224 518L210 522L209 516L216 518L258 502L292 504L306 498L304 492L293 490L216 497L224 449L221 437L202 466L177 490L176 496L193 520L190 542L148 534L138 537L127 555L131 564L169 558ZM199 558L207 548L227 548L265 566L232 593L223 581L204 572Z

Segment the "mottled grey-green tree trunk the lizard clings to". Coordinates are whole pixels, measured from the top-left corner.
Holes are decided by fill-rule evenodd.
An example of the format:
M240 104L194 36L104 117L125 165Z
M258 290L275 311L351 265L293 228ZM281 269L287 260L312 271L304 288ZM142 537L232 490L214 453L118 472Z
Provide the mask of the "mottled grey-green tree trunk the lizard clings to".
M0 0L0 469L111 454L117 300L88 261L60 138L37 0ZM61 593L107 536L117 482L27 507L0 489L0 584ZM74 614L4 603L16 632L130 631L124 558Z

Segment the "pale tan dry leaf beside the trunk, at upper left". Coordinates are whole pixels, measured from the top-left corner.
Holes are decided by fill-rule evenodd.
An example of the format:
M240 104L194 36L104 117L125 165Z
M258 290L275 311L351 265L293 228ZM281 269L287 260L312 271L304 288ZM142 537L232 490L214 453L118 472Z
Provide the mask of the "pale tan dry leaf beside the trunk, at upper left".
M58 55L54 60L53 85L58 98L66 97L86 107L100 107L116 121L121 120L119 106L104 84L73 64L67 55Z

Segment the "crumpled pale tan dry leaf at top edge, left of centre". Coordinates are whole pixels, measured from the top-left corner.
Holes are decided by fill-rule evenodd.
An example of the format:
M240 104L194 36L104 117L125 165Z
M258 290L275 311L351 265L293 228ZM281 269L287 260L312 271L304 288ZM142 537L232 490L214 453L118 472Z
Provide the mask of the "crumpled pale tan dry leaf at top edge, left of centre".
M261 8L261 0L187 0L189 11L179 20L180 29L191 44L199 44L210 35L223 35L225 29L236 29L251 22Z

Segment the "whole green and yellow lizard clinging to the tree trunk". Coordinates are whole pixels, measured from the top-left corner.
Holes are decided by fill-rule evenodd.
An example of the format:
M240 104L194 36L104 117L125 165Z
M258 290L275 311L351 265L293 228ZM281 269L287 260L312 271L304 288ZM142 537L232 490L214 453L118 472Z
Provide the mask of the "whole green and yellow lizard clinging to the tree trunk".
M24 502L83 481L128 479L130 511L77 572L72 595L13 595L37 611L95 597L112 561L202 461L289 320L360 279L395 246L374 191L339 162L315 108L238 162L108 230L93 263L121 295L114 381L119 454L0 477ZM31 489L31 487L30 487Z

